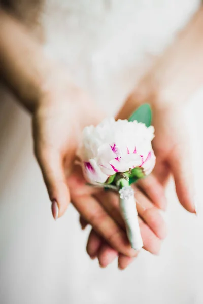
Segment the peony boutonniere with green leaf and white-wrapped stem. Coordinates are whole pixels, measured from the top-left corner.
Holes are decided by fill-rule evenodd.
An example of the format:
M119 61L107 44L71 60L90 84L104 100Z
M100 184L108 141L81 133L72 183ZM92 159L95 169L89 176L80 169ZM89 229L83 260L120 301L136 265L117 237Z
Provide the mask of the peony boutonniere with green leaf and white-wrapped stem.
M155 166L153 138L151 108L144 104L128 120L111 117L96 127L85 127L79 150L86 180L118 192L127 236L136 250L143 247L143 241L131 184L149 175Z

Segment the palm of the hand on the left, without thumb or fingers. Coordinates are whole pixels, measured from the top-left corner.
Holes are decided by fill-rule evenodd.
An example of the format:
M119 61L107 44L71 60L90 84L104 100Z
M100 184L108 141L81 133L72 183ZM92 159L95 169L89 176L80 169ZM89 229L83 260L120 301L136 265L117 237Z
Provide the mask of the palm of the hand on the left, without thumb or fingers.
M56 95L55 102L48 104L49 101L44 100L33 117L35 145L41 151L58 150L71 163L80 143L82 129L90 123L96 124L99 116L93 115L95 110L89 97L76 88L65 89ZM86 104L92 111L88 110Z

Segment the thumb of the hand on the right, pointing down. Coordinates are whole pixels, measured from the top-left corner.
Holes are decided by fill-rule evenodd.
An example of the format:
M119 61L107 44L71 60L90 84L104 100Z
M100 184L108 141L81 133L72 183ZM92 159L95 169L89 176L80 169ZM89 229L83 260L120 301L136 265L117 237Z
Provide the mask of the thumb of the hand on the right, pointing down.
M169 157L169 164L180 203L187 211L195 213L192 166L189 164L190 157L187 154L186 149L180 146L174 147Z

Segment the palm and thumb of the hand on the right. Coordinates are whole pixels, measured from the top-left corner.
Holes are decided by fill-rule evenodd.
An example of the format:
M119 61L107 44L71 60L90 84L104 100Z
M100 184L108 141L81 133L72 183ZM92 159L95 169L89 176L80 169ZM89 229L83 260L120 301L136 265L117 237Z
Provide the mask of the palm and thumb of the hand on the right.
M191 172L191 157L188 147L187 130L181 116L181 110L175 106L155 107L153 125L155 138L153 149L157 157L153 174L165 185L172 173L178 198L185 209L195 212L191 184L188 172Z

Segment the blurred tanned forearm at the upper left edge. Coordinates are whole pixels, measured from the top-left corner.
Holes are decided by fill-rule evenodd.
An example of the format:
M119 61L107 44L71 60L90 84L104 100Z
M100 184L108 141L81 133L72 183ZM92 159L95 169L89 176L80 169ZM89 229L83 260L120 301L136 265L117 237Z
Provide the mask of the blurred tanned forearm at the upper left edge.
M32 110L42 94L51 63L28 29L0 10L0 76Z

